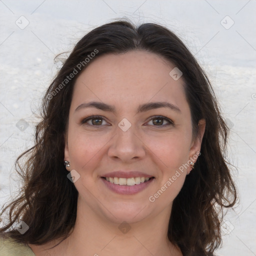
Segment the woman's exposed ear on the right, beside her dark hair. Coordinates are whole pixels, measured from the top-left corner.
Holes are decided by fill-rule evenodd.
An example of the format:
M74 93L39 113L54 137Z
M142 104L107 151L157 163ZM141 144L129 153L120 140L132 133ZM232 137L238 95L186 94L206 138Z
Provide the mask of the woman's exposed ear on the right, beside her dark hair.
M198 121L198 135L193 139L190 145L190 150L189 150L189 161L192 161L193 163L196 162L197 157L199 156L199 152L201 149L201 142L202 142L202 137L204 134L205 130L205 119L200 119ZM191 171L191 167L187 168L186 173L189 174Z

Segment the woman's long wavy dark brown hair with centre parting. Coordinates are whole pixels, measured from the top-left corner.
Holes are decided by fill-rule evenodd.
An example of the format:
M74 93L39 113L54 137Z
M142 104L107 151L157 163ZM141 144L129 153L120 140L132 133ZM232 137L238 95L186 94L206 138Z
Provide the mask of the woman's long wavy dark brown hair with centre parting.
M42 120L36 125L35 144L15 162L23 186L18 198L3 207L2 213L9 212L9 222L0 228L2 234L31 244L65 239L70 234L76 219L77 190L67 178L69 172L63 158L73 86L79 73L95 58L130 50L156 53L178 67L183 73L193 126L201 118L206 121L201 155L173 201L168 238L180 247L183 255L212 255L221 244L223 214L219 213L223 207L234 205L236 189L225 159L228 127L210 82L173 32L158 24L136 27L122 20L101 25L84 35L48 87L42 100ZM89 62L85 60L88 55L93 56ZM76 74L70 78L74 69ZM21 166L19 160L24 156L27 158ZM11 229L20 220L29 226L24 234Z

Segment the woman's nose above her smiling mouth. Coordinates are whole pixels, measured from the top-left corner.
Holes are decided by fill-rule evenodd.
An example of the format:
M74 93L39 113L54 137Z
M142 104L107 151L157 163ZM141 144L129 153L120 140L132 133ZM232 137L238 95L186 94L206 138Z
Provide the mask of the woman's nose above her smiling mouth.
M116 134L110 140L108 156L114 159L120 159L123 162L130 162L134 159L140 159L145 155L145 144L135 133L133 125L126 131L116 128Z

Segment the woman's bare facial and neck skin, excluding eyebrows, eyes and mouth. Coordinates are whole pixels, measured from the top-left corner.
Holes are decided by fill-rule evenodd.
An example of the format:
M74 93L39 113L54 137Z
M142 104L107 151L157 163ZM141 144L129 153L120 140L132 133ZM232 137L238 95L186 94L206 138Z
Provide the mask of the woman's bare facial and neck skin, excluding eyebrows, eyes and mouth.
M154 202L148 199L200 151L205 127L204 120L200 120L199 136L193 137L182 76L175 81L169 75L173 67L154 53L130 51L100 56L78 76L64 150L64 160L70 162L67 169L75 169L80 175L74 182L79 194L76 223L72 234L55 248L47 249L56 240L43 246L30 244L36 256L112 256L113 252L123 256L182 255L168 241L167 225L172 201L191 168L180 172ZM113 105L116 112L91 107L75 111L89 101ZM155 101L169 102L180 111L161 107L137 113L139 104ZM92 120L81 123L92 115L103 119L94 126ZM167 117L174 124L164 126L168 122L156 117L153 122L150 117L155 115ZM131 124L126 131L118 127L123 118ZM117 194L104 185L100 176L120 169L142 171L155 178L136 194ZM130 227L127 233L118 228L123 221Z

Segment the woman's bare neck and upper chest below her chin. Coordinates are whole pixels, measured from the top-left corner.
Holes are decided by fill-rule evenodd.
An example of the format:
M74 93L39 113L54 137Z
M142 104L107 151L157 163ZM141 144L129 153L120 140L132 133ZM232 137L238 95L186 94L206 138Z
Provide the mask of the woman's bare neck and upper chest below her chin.
M77 202L77 217L73 231L56 247L47 250L50 255L182 255L179 248L167 238L171 206L157 216L139 222L111 222L95 214L84 203ZM50 248L57 242L43 245ZM34 246L32 250L36 253ZM52 250L55 253L52 253ZM45 255L47 255L47 252ZM59 253L59 254L58 254ZM38 252L38 256L43 253ZM36 254L37 256L37 254Z

